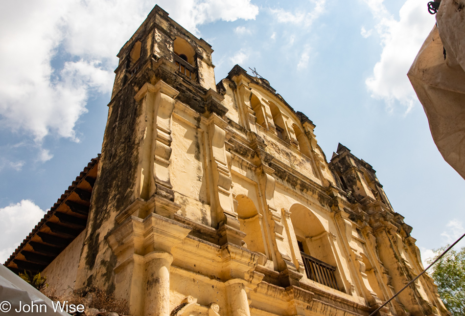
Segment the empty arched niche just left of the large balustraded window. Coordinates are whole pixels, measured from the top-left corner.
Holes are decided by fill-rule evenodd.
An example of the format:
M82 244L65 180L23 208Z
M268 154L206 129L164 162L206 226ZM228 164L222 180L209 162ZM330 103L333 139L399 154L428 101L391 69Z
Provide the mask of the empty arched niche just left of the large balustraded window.
M235 199L237 200L236 212L240 230L247 234L244 237L244 247L266 255L261 216L258 214L254 202L244 195L238 195Z

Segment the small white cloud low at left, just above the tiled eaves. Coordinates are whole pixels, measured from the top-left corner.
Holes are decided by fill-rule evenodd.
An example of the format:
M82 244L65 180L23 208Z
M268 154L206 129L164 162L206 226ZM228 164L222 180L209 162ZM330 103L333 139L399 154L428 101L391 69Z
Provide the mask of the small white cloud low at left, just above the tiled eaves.
M23 242L45 212L29 200L0 208L0 262L3 263Z

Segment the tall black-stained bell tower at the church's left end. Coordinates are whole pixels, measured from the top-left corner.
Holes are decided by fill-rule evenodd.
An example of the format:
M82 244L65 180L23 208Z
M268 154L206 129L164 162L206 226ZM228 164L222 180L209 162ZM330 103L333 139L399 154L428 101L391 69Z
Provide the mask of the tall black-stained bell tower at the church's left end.
M195 234L215 235L221 226L220 237L211 237L214 243L238 246L245 235L233 210L225 151L227 124L221 118L228 110L221 104L223 96L216 92L212 52L207 42L155 6L117 55L99 176L75 287L113 289L116 296L128 300L131 315L170 314L172 249L186 243L189 233L193 244L184 247L183 262L177 265L189 270L205 269L193 268L199 260L197 253L202 252L195 249L199 246ZM176 107L179 111L174 114ZM189 148L180 142L174 149L180 153L176 157L173 115L186 125L184 131L178 131L184 133L182 138L196 139ZM191 170L195 168L198 170ZM186 171L203 183L195 201L188 193L192 190L189 182L183 183ZM173 180L177 189L173 189ZM180 204L187 200L193 201L189 204L194 207ZM226 291L235 297L229 304L248 310L245 277L251 279L247 271L258 256L231 247L220 250L215 246L213 258L220 256L227 266L215 274L224 274L229 282ZM204 258L205 267L216 260L209 257ZM192 303L193 298L187 296L186 304ZM217 315L218 305L207 303L202 306L209 315Z

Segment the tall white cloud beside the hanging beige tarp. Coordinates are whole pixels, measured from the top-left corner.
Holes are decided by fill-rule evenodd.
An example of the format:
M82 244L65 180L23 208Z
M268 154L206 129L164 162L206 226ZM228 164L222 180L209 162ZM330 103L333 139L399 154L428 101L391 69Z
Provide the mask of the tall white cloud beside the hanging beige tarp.
M384 99L388 108L400 102L408 113L418 103L417 96L407 78L419 48L434 26L435 19L424 3L407 0L399 11L399 21L389 14L383 0L364 0L377 21L375 30L383 47L373 74L366 80L372 97ZM362 28L362 36L363 36Z

